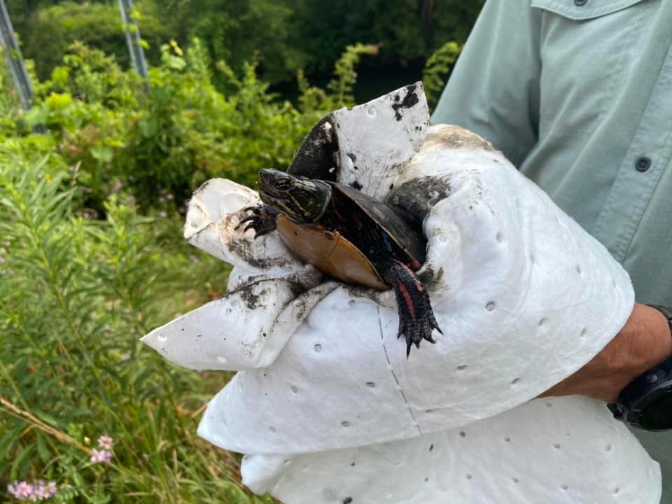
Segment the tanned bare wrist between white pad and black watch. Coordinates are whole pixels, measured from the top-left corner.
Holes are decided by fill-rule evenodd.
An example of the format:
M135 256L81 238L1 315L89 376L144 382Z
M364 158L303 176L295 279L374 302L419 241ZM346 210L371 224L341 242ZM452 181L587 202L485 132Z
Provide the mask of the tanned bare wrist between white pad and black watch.
M665 316L657 309L636 303L622 330L600 353L541 397L586 395L617 402L627 384L671 353L672 337Z

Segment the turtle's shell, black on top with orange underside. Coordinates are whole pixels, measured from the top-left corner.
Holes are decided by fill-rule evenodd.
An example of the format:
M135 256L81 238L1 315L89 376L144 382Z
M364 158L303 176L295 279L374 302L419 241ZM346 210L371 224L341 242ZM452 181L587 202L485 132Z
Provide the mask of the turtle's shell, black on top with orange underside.
M391 207L361 191L329 182L332 211L314 223L295 223L283 214L276 225L298 258L346 283L390 288L379 267L396 258L411 269L425 260L426 238Z

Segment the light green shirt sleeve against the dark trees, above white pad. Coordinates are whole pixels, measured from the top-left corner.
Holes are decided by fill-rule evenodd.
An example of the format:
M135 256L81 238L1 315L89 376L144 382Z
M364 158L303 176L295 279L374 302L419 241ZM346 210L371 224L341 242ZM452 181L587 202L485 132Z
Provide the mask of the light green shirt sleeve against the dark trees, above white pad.
M519 166L538 138L540 22L528 0L487 0L432 123L472 130Z

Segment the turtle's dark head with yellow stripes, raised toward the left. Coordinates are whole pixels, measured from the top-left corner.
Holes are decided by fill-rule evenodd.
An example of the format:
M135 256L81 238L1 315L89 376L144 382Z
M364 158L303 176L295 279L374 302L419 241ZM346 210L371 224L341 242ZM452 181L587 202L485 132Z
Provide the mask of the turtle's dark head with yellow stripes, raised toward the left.
M297 223L316 221L331 200L328 183L295 177L274 169L259 171L258 186L262 202Z

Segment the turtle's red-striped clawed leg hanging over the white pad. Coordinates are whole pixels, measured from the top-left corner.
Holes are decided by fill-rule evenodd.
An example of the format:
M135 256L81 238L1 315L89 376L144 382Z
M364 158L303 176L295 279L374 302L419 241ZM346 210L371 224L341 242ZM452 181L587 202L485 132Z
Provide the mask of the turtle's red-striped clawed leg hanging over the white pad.
M397 337L404 335L406 339L406 357L411 353L411 346L420 347L420 342L426 339L436 343L432 337L433 330L443 332L434 316L432 304L427 289L403 262L393 259L383 273L385 281L392 288L397 298L399 311L399 332Z

